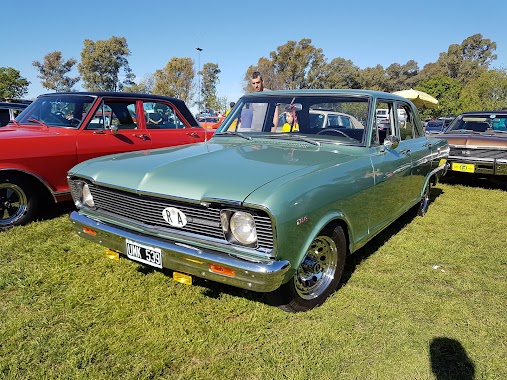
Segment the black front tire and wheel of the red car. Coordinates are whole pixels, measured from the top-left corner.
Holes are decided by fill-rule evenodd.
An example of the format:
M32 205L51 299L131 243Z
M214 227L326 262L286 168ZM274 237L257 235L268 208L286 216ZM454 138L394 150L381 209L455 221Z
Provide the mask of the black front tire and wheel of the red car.
M35 219L39 195L22 178L0 177L0 230Z

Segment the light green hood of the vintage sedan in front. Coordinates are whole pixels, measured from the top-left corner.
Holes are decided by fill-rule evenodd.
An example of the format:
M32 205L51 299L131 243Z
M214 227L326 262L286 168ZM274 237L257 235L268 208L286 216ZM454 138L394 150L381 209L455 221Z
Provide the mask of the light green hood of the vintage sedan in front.
M244 141L244 140L243 140ZM207 142L95 158L69 171L97 183L191 200L244 201L256 189L354 155L309 144Z

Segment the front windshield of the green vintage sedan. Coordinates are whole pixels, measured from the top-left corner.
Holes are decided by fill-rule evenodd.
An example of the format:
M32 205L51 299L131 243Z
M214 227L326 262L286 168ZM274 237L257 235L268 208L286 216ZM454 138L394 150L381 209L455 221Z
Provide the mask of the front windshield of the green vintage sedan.
M270 96L266 91L266 96L241 98L215 135L281 137L290 134L362 144L368 110L368 97Z

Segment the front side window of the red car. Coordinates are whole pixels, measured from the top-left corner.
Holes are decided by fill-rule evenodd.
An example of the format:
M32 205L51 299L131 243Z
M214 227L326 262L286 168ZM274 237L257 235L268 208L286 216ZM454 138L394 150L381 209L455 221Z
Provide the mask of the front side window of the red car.
M135 100L104 100L85 129L109 129L111 125L118 127L118 130L137 129L135 104Z

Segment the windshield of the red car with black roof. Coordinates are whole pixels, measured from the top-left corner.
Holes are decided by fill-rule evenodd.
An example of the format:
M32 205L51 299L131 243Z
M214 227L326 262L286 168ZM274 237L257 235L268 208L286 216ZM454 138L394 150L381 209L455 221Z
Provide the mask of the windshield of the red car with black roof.
M16 121L20 124L77 128L94 100L92 96L66 94L41 96L30 104Z

